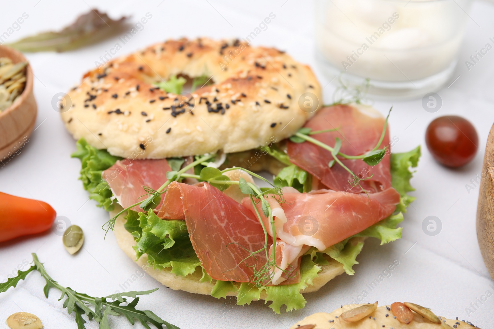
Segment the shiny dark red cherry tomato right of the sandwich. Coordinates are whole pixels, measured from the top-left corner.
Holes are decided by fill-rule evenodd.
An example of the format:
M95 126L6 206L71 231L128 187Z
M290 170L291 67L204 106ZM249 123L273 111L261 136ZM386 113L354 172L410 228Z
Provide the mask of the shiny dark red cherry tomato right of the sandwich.
M434 119L425 132L425 143L432 156L447 167L460 167L477 153L479 136L466 119L446 115Z

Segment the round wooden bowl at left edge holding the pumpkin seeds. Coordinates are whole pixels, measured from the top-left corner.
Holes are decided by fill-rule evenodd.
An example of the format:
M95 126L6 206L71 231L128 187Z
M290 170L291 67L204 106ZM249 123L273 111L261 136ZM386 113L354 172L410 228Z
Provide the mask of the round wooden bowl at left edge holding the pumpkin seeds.
M2 45L0 57L9 57L14 63L27 62L22 53ZM37 112L33 95L33 71L28 64L24 91L9 108L0 111L0 165L25 145L33 131Z

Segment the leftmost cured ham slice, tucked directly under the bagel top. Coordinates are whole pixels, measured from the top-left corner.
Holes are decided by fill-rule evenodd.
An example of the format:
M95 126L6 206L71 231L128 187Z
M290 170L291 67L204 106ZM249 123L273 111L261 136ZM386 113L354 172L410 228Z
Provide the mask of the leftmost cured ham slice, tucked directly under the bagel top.
M171 171L168 161L161 160L119 160L103 171L101 177L108 182L113 195L123 208L144 201L148 192L143 186L156 190L166 182L166 172ZM163 204L163 196L160 205ZM142 211L139 206L132 208Z

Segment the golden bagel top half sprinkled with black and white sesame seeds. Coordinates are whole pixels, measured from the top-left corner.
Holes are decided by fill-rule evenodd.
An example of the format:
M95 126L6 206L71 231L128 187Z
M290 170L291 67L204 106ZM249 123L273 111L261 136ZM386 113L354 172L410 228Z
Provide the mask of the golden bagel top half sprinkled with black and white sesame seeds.
M180 74L214 84L182 95L153 85ZM281 141L321 103L314 73L286 53L207 38L168 40L109 61L68 95L72 106L61 116L74 138L133 159Z

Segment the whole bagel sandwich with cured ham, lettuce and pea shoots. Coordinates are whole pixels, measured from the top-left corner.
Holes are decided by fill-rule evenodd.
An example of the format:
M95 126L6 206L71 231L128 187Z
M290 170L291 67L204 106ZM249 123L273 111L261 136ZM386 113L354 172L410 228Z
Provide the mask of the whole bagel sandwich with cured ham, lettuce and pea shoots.
M168 40L68 95L84 188L125 254L171 289L290 311L353 275L366 238L401 238L420 147L391 153L371 107L320 107L311 69L284 52Z

